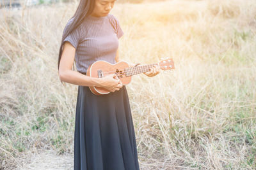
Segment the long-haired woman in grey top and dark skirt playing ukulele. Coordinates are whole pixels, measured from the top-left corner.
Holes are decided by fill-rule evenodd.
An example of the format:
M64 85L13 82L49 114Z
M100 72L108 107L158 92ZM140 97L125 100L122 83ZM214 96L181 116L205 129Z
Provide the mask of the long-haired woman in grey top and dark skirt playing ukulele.
M136 138L127 91L111 74L104 78L86 76L96 60L118 62L118 39L124 34L109 11L113 0L81 0L68 21L61 40L58 69L60 80L79 85L74 134L74 169L140 169ZM77 71L72 71L76 60ZM130 64L134 66L134 64ZM155 76L160 69L145 73ZM92 94L89 86L111 93Z

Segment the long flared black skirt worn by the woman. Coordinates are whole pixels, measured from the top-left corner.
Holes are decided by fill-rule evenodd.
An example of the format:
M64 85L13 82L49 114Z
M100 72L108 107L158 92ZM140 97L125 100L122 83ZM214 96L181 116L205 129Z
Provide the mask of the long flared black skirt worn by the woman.
M95 96L88 87L79 86L74 169L140 169L125 86L103 96Z

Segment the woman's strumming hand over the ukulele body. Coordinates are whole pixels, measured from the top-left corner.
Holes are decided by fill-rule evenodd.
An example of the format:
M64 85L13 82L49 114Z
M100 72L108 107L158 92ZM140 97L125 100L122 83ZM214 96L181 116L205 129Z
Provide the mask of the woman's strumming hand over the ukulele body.
M109 74L108 76L104 76L100 78L100 86L104 89L109 90L110 92L115 92L116 90L120 90L123 85L122 81L116 76L116 74Z

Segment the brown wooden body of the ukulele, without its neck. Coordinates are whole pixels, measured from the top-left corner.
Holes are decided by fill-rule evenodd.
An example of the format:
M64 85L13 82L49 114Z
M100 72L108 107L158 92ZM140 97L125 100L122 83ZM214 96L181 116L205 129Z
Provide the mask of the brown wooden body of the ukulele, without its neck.
M131 82L131 76L125 76L124 69L129 67L129 64L125 61L117 62L116 64L110 64L104 60L98 60L94 62L87 69L87 76L100 78L99 73L102 73L102 77L115 73L116 76L122 81L123 85L127 85ZM89 87L93 94L100 96L103 94L109 94L109 90L102 87Z

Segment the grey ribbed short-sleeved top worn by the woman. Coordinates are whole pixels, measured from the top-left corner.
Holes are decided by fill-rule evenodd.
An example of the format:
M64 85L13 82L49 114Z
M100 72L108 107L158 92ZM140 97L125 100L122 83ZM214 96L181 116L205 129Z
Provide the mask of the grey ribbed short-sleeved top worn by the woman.
M67 25L71 24L72 20L71 18ZM118 20L113 15L89 16L77 29L68 34L64 42L69 41L76 48L77 71L86 73L88 67L97 60L115 64L118 39L123 34Z

